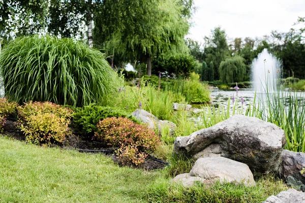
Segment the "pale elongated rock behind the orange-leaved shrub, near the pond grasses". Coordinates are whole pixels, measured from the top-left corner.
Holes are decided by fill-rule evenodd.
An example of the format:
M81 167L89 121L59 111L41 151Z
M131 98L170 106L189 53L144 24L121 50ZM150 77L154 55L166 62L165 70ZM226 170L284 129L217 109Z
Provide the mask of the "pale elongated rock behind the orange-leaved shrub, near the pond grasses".
M146 123L150 129L155 129L156 127L158 127L160 136L161 136L161 129L163 127L169 127L171 136L175 132L176 124L167 120L159 120L156 116L143 109L136 109L132 113L132 115L142 123Z

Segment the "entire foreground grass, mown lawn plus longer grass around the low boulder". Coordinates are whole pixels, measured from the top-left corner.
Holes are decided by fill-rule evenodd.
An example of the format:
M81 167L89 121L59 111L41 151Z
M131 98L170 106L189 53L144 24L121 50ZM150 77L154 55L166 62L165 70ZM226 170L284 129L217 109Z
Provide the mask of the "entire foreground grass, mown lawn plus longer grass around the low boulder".
M1 202L261 202L287 187L267 177L256 187L170 183L193 161L170 160L163 171L119 167L103 154L38 147L0 137ZM171 168L170 168L171 167ZM170 172L176 172L175 174Z

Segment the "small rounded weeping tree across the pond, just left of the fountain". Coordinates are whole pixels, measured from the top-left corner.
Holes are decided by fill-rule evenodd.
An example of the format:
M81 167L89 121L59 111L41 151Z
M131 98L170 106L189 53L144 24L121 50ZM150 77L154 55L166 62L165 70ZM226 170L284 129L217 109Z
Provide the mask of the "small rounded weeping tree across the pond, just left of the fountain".
M241 82L246 75L246 64L243 58L234 56L222 61L219 66L220 80L224 83Z

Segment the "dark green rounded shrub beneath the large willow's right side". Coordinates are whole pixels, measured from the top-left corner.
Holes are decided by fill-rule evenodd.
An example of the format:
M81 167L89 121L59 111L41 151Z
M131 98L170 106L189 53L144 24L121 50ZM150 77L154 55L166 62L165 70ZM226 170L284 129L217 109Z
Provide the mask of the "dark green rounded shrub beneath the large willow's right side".
M170 77L188 77L198 65L190 54L161 54L153 63L155 75L167 72Z

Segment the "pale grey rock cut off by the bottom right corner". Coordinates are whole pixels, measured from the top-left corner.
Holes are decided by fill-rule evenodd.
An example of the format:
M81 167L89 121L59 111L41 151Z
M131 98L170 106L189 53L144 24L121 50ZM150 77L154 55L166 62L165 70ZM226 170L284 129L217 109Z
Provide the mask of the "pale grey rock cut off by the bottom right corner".
M277 196L271 195L262 203L305 203L305 193L289 189Z

